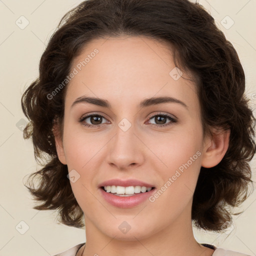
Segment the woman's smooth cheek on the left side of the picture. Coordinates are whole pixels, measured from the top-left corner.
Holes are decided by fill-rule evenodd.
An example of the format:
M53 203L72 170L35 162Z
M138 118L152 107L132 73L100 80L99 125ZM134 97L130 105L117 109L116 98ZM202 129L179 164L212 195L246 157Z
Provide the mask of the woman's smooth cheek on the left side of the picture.
M100 155L100 148L103 142L95 141L89 133L84 133L80 129L75 129L71 125L66 125L63 133L63 146L68 167L69 176L73 175L75 182L70 179L70 185L78 204L88 204L91 189L94 184L95 169L97 169L97 156ZM97 153L98 152L98 153ZM87 198L86 200L84 198ZM93 200L90 202L93 203Z

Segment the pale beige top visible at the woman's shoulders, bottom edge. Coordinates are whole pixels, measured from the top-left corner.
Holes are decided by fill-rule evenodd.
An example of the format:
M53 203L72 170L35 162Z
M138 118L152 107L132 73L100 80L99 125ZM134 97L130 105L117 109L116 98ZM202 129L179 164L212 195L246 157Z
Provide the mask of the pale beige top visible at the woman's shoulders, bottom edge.
M79 243L73 247L71 247L68 250L65 250L59 254L53 255L53 256L75 256L79 248L83 245L84 243ZM213 245L211 245L213 246ZM241 252L233 251L233 250L226 250L223 248L216 248L212 254L212 256L250 256L248 254L243 254Z

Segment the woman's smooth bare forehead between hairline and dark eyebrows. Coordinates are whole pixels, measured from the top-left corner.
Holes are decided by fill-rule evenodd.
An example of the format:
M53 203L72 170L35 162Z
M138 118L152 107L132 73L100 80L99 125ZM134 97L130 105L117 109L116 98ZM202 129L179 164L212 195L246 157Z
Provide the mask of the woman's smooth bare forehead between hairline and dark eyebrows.
M77 73L67 88L69 104L84 94L128 104L149 96L182 101L196 97L194 84L182 78L188 78L185 73L179 79L173 76L177 69L171 45L145 36L93 39L73 59L74 68Z

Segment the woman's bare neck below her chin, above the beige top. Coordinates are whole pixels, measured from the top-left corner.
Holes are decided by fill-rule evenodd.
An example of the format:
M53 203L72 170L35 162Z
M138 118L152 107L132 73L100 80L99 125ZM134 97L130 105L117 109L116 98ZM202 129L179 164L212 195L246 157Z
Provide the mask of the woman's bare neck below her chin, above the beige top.
M163 229L140 236L130 233L127 239L117 239L101 232L89 219L86 223L86 246L78 256L210 256L213 249L200 245L193 236L190 211L183 211L172 223ZM131 231L131 230L130 230Z

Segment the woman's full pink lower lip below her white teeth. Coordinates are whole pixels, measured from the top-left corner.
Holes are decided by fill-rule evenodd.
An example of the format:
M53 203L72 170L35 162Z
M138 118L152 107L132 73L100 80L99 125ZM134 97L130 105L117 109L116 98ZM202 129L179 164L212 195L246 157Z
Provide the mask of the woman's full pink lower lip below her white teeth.
M152 188L150 191L147 191L144 193L137 193L131 196L118 196L110 192L107 193L102 188L99 188L99 189L100 189L101 195L107 202L119 208L131 208L133 206L136 206L142 203L143 201L145 201L150 195L152 195L152 193L154 193L154 190L155 190L155 188Z

